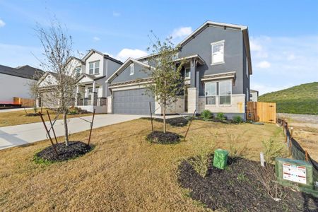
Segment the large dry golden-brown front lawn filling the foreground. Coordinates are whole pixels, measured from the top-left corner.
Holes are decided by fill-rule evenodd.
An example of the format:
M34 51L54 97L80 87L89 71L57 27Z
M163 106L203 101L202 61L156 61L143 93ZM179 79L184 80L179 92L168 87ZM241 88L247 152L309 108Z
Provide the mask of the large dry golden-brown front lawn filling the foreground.
M168 130L184 134L186 127ZM261 141L284 141L275 124L194 121L187 140L175 145L146 142L150 131L146 119L94 129L93 151L51 165L33 162L49 141L0 151L0 211L206 211L177 183L183 158L218 147L236 148L245 158L258 160ZM84 131L71 140L87 137Z

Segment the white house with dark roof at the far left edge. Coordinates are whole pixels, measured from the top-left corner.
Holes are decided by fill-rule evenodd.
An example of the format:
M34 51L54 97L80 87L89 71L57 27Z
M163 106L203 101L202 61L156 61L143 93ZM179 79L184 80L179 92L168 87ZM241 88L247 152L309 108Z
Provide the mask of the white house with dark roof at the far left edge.
M34 98L30 93L30 84L43 73L31 66L11 68L0 65L0 103L13 103L13 97Z

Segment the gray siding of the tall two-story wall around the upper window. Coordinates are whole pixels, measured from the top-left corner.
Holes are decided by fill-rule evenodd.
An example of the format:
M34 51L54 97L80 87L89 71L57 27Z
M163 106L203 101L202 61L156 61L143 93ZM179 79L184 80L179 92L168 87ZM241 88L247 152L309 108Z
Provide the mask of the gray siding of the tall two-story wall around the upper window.
M224 64L211 66L211 43L225 40L224 46ZM199 71L199 95L204 95L204 83L201 83L201 77L208 74L224 73L236 71L235 86L232 86L233 94L243 93L243 35L240 30L232 30L227 28L216 28L209 26L204 31L196 35L194 39L185 44L179 57L187 57L193 54L199 54L204 59L205 64L197 66Z

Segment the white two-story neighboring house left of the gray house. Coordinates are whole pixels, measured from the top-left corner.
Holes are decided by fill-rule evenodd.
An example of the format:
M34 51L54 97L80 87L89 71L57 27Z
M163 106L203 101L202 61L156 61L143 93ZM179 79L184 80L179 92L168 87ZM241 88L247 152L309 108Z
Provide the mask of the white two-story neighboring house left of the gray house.
M110 95L110 90L105 81L122 65L122 62L91 49L83 59L71 57L69 65L78 73L74 105L90 112L95 109L97 113L107 113L107 95ZM50 97L46 78L54 78L54 75L55 73L47 72L40 79L38 85L44 94L42 98Z

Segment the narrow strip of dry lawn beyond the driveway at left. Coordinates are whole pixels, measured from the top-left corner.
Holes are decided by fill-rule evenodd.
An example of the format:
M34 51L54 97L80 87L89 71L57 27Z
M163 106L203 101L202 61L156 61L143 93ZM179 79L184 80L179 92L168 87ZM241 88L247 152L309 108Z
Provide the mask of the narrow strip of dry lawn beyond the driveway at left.
M40 111L40 110L39 110ZM34 110L27 110L28 113L34 113ZM47 117L47 109L43 109L43 118L45 121L49 121L49 118ZM54 119L56 116L56 113L52 110L49 110L49 115L51 116L51 119ZM68 118L73 117L83 117L87 115L92 114L72 114L68 115ZM62 119L63 116L60 114L59 119ZM27 117L25 115L24 110L20 111L14 111L14 112L0 112L0 126L12 126L12 125L18 125L18 124L29 124L34 122L41 122L41 118L39 116L37 117Z

